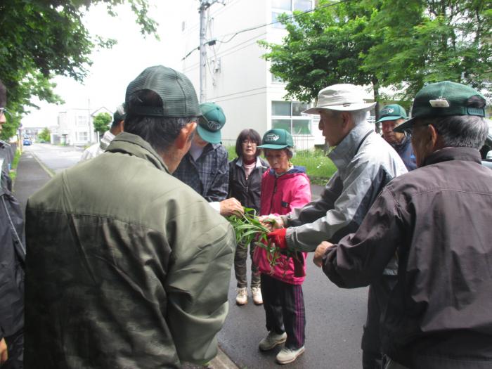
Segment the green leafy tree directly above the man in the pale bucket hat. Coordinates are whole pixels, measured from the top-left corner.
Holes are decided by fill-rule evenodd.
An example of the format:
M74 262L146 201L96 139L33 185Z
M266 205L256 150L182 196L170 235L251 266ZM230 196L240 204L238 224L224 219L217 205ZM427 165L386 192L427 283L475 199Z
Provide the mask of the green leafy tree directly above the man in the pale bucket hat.
M321 0L312 13L294 12L294 22L280 17L287 30L283 44L260 44L270 49L264 58L271 61L273 75L286 83L286 97L309 102L323 87L352 83L372 84L377 101L377 77L361 68L361 55L380 42L367 32L371 14L371 8L355 1L334 5Z

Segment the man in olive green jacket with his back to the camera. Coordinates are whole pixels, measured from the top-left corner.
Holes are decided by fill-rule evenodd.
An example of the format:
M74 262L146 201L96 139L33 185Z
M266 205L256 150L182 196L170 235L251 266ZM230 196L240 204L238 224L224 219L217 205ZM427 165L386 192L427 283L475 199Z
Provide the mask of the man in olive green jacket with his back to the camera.
M171 173L200 108L181 73L144 70L125 132L27 204L26 368L179 368L216 355L235 238Z

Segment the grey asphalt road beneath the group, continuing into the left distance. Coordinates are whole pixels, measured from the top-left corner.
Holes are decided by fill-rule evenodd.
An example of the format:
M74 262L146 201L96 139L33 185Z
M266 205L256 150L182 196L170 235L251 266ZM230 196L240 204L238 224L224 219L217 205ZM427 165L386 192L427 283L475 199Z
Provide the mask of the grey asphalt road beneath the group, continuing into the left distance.
M79 161L82 149L70 146L34 144L25 147L26 160L21 159L19 170L32 170L36 176L19 173L15 188L17 195L27 199L48 180L35 165L31 156L37 158L44 167L59 172ZM26 183L22 183L25 181ZM30 186L27 187L27 181ZM323 188L313 185L313 198L317 198ZM30 193L22 193L30 192ZM367 288L341 290L325 277L321 269L314 266L312 257L308 258L306 280L303 285L306 304L306 351L297 361L284 365L285 368L361 368L361 335L365 321ZM249 262L249 261L248 261ZM248 290L250 294L250 290ZM251 295L246 306L235 305L235 277L231 275L229 287L229 313L224 328L219 332L221 349L240 368L275 368L275 356L280 348L268 353L260 352L258 343L266 335L264 309L252 304ZM186 368L197 368L186 365Z

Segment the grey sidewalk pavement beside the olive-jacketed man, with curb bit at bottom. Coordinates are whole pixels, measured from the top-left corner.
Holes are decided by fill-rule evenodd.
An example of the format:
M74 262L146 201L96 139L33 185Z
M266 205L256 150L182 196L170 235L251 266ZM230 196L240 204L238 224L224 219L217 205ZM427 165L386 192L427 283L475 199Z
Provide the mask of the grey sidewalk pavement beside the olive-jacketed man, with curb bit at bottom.
M15 198L20 202L22 215L25 216L27 199L48 182L53 174L32 153L24 152L19 160L17 176L13 185ZM29 251L29 250L28 250ZM209 365L192 365L185 363L183 369L236 369L233 361L219 348L219 354L210 361Z

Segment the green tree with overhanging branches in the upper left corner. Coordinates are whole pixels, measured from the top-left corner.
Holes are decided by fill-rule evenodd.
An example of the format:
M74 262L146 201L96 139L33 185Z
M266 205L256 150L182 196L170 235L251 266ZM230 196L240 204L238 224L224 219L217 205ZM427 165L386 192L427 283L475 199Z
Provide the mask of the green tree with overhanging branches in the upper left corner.
M6 138L15 131L20 117L30 107L31 97L59 103L51 82L54 75L82 81L91 65L95 48L109 48L113 39L91 37L82 18L93 4L105 4L110 15L115 6L128 3L141 25L141 32L157 34L157 23L148 18L147 0L1 0L0 1L0 79L8 89L7 108L15 112L12 127L0 134Z

